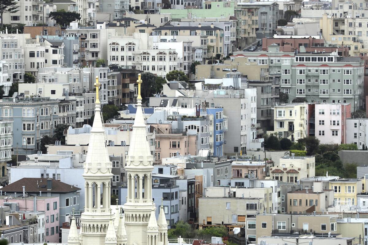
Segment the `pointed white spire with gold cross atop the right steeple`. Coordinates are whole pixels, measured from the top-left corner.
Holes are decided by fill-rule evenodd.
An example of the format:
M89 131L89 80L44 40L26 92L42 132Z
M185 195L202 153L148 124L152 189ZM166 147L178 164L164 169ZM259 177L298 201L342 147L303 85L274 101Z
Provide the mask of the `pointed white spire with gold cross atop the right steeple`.
M129 145L127 166L125 169L148 168L153 169L153 158L147 139L147 127L142 111L141 74L138 75L137 112L135 114L133 131Z

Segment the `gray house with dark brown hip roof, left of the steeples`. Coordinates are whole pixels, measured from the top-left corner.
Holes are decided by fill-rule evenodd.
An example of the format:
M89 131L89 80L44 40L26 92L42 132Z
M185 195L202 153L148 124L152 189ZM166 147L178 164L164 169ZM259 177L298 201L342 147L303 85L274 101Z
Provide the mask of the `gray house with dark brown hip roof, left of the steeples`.
M59 226L63 226L63 222L68 221L67 217L74 210L81 210L79 206L79 192L81 188L63 183L56 179L46 178L23 178L15 181L1 190L7 195L25 192L30 196L47 196L59 197L60 219ZM65 217L65 219L64 219Z

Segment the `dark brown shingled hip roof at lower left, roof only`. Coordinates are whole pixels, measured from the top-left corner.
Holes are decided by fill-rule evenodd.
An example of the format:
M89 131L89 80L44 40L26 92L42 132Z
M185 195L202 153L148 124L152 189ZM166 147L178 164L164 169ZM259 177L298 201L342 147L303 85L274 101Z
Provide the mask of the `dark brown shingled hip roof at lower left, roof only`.
M42 182L41 182L42 180ZM23 178L15 181L7 186L4 186L1 190L7 192L23 192L23 186L27 193L39 193L42 192L53 192L53 193L68 193L79 191L81 188L66 184L59 180L51 179L52 189L47 190L47 179L46 178ZM37 184L38 183L38 184Z

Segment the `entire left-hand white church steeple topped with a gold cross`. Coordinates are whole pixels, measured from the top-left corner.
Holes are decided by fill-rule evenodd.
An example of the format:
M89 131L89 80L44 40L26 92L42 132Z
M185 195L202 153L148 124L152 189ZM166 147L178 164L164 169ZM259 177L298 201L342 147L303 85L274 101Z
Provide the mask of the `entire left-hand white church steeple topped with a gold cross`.
M85 209L80 222L81 245L105 244L110 221L111 178L113 174L101 116L99 86L100 83L96 77L95 119L93 120L84 173L82 174L85 181Z

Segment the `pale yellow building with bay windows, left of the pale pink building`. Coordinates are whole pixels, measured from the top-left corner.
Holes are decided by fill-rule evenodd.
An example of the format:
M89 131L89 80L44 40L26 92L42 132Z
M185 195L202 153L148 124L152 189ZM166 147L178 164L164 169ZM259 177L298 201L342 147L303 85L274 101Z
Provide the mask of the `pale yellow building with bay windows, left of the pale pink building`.
M306 104L275 105L273 107L274 130L267 131L267 133L296 142L308 135L307 115L308 106Z

